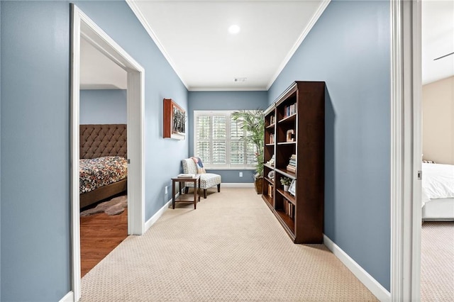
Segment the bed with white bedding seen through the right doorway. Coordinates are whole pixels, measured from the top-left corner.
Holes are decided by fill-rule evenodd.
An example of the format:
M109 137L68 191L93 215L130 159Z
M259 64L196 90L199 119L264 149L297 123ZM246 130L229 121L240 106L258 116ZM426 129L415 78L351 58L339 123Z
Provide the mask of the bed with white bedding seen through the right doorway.
M422 164L423 220L454 220L454 165Z

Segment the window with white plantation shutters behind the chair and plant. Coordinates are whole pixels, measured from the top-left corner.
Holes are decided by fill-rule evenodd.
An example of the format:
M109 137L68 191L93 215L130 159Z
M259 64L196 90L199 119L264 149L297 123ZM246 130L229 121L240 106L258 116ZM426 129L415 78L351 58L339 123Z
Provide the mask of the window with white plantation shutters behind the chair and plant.
M218 169L255 168L255 147L241 140L248 135L233 111L194 111L194 156L204 167Z

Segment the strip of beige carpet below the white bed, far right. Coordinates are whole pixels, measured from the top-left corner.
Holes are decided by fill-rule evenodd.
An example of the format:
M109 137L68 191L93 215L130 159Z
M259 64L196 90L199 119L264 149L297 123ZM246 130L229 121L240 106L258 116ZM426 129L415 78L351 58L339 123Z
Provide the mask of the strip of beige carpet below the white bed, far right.
M421 301L454 301L454 222L423 223Z

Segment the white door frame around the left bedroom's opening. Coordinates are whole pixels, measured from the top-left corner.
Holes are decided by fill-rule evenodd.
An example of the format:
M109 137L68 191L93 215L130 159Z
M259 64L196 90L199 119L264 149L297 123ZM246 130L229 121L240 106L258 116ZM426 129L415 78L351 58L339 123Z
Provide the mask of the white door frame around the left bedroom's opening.
M145 231L144 167L144 87L145 69L101 30L77 6L71 4L71 203L72 203L72 291L74 301L81 296L80 209L79 209L79 86L80 39L84 37L96 49L128 73L127 144L128 144L128 235Z

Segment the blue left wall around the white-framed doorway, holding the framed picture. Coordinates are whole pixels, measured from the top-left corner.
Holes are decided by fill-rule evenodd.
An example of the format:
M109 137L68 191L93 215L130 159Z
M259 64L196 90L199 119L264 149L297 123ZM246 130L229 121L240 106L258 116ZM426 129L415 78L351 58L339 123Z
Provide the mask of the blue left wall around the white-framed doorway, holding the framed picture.
M108 2L108 3L106 3ZM145 69L145 220L188 142L162 138L162 99L187 89L124 1L76 1ZM58 301L71 289L70 4L0 1L1 301ZM157 173L159 171L159 173Z

